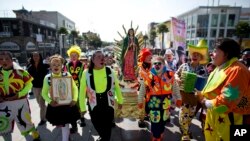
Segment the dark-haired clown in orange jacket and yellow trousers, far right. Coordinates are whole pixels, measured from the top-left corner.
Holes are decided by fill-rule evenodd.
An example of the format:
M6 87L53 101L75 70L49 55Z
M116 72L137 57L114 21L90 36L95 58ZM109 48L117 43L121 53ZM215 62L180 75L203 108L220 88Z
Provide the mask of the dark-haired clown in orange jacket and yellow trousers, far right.
M238 61L240 45L232 39L216 42L213 52L215 70L199 92L200 102L207 108L204 134L206 141L229 141L230 125L249 124L250 73Z

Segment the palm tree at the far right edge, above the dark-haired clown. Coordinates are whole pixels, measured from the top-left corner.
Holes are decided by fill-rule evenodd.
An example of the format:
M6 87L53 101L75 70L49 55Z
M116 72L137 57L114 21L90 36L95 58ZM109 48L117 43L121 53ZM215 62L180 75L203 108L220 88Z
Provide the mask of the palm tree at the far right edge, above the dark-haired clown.
M242 38L249 37L250 33L250 25L248 22L240 21L235 27L236 29L236 35L239 38L239 44L241 46L242 44Z

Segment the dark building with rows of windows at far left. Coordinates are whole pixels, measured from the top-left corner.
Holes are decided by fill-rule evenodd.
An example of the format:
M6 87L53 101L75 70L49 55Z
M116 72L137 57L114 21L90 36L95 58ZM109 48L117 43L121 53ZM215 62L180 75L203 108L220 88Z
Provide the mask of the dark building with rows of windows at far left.
M56 52L56 26L41 23L22 8L13 10L16 18L0 18L0 51L10 51L19 63L27 64L33 51L43 56Z

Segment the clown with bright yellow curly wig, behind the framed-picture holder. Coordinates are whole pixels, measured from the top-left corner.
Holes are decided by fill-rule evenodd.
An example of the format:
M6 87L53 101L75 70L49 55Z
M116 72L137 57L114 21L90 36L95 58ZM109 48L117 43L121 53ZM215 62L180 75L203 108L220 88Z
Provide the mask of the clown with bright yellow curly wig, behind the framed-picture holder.
M66 64L66 70L72 75L76 86L78 87L78 90L80 88L80 79L82 76L82 72L84 71L84 64L80 61L81 56L81 48L77 45L73 45L69 48L67 51L67 54L70 58L70 61ZM84 127L85 119L82 116L81 117L81 127ZM77 132L77 124L72 123L71 133Z

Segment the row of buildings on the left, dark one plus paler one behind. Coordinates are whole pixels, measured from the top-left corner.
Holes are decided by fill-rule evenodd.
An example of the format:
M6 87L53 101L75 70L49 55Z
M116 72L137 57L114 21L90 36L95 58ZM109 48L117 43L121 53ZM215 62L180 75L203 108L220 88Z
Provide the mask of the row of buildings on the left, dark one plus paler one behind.
M62 46L67 47L67 38L63 36L62 45L57 32L60 27L75 29L75 23L67 17L58 12L32 12L24 8L13 12L15 17L0 18L0 51L11 51L19 63L27 64L33 51L45 58L61 53Z

